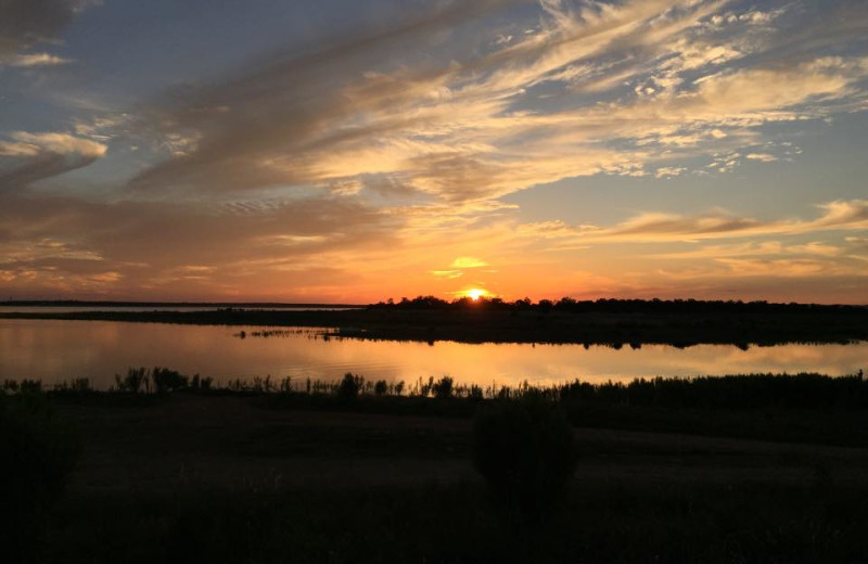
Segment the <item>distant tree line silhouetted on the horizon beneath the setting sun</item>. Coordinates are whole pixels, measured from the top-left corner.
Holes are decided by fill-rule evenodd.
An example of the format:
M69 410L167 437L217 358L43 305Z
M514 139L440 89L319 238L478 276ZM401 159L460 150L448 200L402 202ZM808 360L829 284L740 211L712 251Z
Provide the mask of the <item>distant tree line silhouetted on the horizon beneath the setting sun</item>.
M866 313L868 306L820 305L769 303L766 300L704 300L704 299L575 299L562 297L558 300L540 299L534 303L531 298L507 302L499 297L480 297L472 299L461 297L448 302L436 296L417 296L412 299L403 297L395 302L380 302L368 306L370 309L494 309L520 311L569 311L572 313L791 313L791 312L854 312Z

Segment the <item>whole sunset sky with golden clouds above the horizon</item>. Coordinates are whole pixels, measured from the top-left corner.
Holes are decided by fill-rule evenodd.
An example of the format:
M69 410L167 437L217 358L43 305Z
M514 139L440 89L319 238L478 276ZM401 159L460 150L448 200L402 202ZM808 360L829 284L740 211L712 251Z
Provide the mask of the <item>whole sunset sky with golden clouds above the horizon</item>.
M0 0L0 299L868 304L864 0Z

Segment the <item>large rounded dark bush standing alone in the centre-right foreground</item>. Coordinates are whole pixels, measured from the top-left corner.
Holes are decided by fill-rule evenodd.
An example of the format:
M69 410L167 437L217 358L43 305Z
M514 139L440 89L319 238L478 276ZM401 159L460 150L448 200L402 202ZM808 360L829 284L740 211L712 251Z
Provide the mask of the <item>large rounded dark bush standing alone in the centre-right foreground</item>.
M562 499L575 471L573 427L540 397L481 406L473 462L505 509L540 516Z

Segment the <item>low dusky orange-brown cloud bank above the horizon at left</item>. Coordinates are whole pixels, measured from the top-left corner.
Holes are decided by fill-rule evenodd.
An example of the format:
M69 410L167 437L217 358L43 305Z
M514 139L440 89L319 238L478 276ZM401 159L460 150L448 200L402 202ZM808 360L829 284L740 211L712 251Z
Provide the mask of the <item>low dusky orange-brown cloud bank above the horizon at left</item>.
M307 284L307 271L323 277L323 284L332 272L334 286L358 278L372 256L395 248L400 227L396 218L345 198L245 209L0 194L4 289L46 295L92 291L94 275L116 272L104 279L116 295L174 292L190 277L200 281L183 286L189 297L232 289L285 295Z

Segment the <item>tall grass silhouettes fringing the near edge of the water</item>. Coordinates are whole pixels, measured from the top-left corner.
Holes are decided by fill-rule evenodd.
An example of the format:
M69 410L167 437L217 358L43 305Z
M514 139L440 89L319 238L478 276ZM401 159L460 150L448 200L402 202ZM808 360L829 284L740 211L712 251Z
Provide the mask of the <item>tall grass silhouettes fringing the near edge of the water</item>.
M39 392L39 381L5 380L0 390L5 393ZM115 375L110 392L233 392L254 394L332 395L339 397L418 397L436 399L522 399L544 397L567 405L613 406L621 408L648 407L665 409L868 409L868 379L863 374L827 376L815 373L743 374L700 376L691 379L635 379L630 382L592 383L574 380L561 384L533 385L527 381L515 386L458 384L451 376L435 380L419 379L412 385L404 381L369 381L359 374L346 373L340 381L318 379L272 379L270 375L251 380L234 379L226 383L199 374L188 377L177 371L155 367L130 368L125 376ZM93 392L90 380L74 379L54 385L58 393Z

